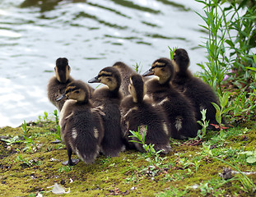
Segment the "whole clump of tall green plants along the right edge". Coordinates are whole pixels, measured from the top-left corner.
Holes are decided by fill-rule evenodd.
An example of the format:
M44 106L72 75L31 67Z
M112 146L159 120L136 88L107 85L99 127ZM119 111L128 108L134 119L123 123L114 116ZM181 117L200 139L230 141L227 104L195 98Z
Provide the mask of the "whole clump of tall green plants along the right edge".
M198 64L199 75L220 97L230 91L228 117L245 121L244 117L254 115L256 100L256 1L195 1L204 6L203 14L197 14L207 31L201 45L207 49L207 62Z

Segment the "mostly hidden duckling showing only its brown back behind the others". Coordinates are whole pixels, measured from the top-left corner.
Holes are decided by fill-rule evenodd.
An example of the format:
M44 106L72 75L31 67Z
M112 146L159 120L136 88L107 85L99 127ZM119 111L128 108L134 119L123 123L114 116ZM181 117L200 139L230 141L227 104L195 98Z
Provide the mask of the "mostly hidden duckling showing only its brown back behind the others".
M129 93L128 91L128 85L130 76L135 75L136 71L133 70L133 68L129 67L123 62L115 62L113 65L115 68L117 68L120 72L122 83L120 85L120 90L123 93L123 96L127 96Z

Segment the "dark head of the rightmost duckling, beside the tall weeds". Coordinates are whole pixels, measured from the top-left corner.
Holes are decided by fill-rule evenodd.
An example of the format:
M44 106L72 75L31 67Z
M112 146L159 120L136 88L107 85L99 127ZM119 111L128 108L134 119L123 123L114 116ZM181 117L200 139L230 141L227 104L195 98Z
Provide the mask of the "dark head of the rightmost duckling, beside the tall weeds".
M175 50L173 63L175 71L178 73L184 73L189 67L189 55L184 48L178 48Z

